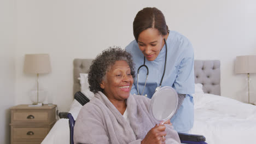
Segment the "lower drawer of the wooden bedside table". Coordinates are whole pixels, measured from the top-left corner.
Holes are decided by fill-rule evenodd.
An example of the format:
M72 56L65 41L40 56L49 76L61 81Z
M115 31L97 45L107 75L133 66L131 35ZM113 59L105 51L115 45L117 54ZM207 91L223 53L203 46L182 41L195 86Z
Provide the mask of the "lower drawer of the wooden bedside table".
M13 128L13 140L44 139L48 128Z

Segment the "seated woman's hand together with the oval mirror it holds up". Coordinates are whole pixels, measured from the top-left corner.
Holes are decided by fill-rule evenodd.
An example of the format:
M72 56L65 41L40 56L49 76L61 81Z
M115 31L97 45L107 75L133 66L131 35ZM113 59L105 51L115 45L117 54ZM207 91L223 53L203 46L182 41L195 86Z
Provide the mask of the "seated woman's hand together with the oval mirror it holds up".
M161 87L156 91L151 99L149 112L152 117L159 122L141 143L165 143L165 124L172 125L170 118L174 115L178 106L178 94L172 87ZM150 141L148 141L150 140Z

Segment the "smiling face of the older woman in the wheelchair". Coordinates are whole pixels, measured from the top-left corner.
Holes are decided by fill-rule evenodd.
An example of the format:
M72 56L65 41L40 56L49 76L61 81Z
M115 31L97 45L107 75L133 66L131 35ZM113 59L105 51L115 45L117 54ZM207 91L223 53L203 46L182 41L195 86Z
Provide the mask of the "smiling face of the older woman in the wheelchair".
M117 61L107 72L105 79L101 83L103 93L108 99L114 101L123 101L130 95L133 78L131 69L126 61Z

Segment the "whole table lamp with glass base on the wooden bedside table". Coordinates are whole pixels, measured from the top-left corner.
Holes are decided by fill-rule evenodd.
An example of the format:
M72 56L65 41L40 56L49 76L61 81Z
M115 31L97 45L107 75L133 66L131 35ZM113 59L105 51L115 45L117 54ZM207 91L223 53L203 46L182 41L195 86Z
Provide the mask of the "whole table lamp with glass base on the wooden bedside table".
M30 91L31 100L34 105L43 103L47 92L39 88L39 74L48 74L51 71L50 57L48 54L26 54L24 72L37 75L36 88ZM40 99L39 99L40 96Z

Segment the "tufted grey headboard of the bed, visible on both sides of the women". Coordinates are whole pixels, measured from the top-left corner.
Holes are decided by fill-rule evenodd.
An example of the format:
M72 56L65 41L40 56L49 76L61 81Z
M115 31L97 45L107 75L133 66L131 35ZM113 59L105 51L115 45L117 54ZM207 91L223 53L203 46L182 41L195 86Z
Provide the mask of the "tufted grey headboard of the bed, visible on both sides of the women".
M74 85L73 95L80 91L78 77L80 73L88 73L93 59L74 59ZM195 83L202 83L203 91L220 95L220 61L218 60L195 60Z

